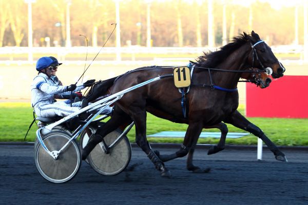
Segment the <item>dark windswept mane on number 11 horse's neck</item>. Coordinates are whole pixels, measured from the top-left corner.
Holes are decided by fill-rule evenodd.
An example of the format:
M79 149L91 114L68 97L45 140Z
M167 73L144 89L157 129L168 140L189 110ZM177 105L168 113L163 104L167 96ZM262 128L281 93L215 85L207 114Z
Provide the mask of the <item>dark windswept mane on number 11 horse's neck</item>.
M221 47L220 50L203 52L203 55L199 56L196 62L191 61L191 63L205 68L215 68L221 61L225 60L230 53L240 48L247 43L247 41L248 38L240 34L239 36L233 37L231 43Z

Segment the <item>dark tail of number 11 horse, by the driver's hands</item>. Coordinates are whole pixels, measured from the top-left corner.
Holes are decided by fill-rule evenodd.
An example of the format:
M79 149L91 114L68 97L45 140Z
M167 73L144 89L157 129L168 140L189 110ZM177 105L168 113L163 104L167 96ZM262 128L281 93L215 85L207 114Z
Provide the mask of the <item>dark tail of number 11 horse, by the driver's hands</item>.
M118 77L118 76L117 76ZM88 94L85 96L88 101L93 101L100 96L108 94L108 89L113 85L114 80L117 77L113 77L107 80L99 81L97 84L94 84Z

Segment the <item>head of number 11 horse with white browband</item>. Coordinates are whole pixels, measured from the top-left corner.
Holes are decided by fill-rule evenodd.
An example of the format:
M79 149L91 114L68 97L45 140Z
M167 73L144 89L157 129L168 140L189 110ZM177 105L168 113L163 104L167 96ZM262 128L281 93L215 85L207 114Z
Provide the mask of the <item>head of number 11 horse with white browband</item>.
M259 35L252 31L251 35L247 35L244 32L245 38L249 41L252 47L252 55L248 57L248 63L253 67L259 69L265 69L268 74L271 74L273 78L279 78L283 76L285 68L278 61L272 49L260 39Z

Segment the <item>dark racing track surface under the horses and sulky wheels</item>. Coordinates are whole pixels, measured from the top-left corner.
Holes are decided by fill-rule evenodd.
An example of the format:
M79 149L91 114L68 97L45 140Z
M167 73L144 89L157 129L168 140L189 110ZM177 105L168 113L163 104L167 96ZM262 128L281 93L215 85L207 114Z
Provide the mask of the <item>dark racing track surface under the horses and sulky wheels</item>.
M54 184L36 171L32 145L0 145L0 204L308 204L308 151L282 151L289 162L268 150L257 161L256 150L208 156L197 149L195 165L209 173L188 172L184 157L166 162L172 177L163 178L133 148L128 169L117 176L99 175L83 162L75 178Z

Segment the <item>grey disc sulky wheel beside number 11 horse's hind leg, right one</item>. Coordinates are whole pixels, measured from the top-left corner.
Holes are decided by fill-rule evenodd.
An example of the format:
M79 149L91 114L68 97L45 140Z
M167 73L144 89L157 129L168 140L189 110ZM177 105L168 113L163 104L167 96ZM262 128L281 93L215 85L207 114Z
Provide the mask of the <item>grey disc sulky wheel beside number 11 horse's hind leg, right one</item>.
M94 128L89 129L92 133ZM86 133L86 132L85 132ZM105 144L110 146L115 139L122 134L121 130L115 130L104 137ZM89 139L88 134L81 135L81 146L85 147ZM128 165L131 158L131 145L126 135L122 136L117 144L104 152L103 142L100 142L88 155L87 160L90 166L102 175L116 175L121 173Z

